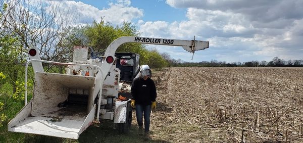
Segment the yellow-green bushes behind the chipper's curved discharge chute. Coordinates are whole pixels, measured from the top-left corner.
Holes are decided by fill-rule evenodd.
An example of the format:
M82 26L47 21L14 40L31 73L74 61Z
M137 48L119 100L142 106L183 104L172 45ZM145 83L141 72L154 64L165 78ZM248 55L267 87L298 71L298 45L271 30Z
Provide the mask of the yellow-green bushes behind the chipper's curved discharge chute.
M74 45L91 46L94 52L102 54L115 39L122 36L139 35L140 33L136 27L129 22L124 22L122 26L114 27L111 23L106 23L102 20L99 23L93 22L92 25L72 29L65 40L65 45L70 47ZM116 52L137 53L140 55L140 64L147 64L152 68L168 66L168 63L157 50L148 51L142 44L125 43L120 45Z

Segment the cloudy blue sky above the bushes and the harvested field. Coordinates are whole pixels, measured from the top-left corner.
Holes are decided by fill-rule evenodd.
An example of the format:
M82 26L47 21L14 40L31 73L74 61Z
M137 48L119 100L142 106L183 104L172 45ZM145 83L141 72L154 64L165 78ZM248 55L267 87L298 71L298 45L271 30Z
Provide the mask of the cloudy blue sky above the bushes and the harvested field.
M57 0L58 1L58 0ZM173 59L201 61L285 61L303 59L301 0L80 0L60 1L79 14L79 24L102 18L132 22L141 36L209 41L193 59L179 46L148 45Z

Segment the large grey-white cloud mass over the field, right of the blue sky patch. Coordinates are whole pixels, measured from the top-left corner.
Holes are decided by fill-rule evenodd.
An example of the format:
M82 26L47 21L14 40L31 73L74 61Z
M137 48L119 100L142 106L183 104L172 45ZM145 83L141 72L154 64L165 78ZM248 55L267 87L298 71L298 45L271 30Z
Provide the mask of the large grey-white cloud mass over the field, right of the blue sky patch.
M303 1L167 0L166 3L174 8L187 8L188 19L172 23L141 21L139 31L145 36L191 39L195 35L198 40L210 41L210 49L196 52L198 57L210 54L227 62L270 61L277 56L285 60L302 59ZM173 58L180 57L174 52L170 54Z

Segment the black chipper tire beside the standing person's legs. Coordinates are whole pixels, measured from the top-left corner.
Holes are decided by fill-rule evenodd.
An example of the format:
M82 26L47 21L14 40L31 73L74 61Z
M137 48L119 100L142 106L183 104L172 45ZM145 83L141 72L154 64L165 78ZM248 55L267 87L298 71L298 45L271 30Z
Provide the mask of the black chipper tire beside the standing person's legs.
M129 132L130 126L132 122L132 108L130 102L127 103L126 107L126 122L125 123L117 123L117 129L119 133L127 133Z

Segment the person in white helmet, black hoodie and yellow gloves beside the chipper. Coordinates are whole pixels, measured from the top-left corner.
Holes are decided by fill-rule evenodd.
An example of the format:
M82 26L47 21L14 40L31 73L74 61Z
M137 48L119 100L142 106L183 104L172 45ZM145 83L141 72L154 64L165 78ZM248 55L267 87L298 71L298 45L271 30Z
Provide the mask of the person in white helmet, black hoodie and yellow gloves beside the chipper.
M131 86L131 106L136 108L136 117L139 126L139 134L149 139L150 110L156 109L157 91L155 82L150 78L151 71L148 65L142 65L140 76L135 78Z

